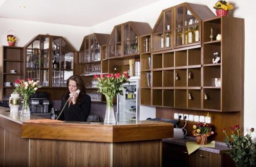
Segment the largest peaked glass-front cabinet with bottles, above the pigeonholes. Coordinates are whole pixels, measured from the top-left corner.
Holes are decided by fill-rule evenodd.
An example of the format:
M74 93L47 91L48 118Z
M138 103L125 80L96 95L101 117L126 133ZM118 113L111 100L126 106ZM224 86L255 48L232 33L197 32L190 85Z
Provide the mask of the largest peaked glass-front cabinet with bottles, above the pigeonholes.
M152 51L201 44L202 20L214 16L207 6L198 4L164 9L152 32Z

